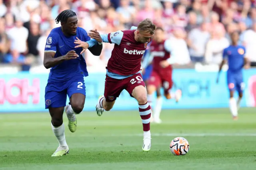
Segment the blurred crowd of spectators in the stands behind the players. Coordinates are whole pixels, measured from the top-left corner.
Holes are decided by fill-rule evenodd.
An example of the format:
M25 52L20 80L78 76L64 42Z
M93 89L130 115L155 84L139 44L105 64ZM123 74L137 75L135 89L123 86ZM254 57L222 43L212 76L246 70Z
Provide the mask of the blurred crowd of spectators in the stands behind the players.
M80 27L100 34L150 18L172 39L178 65L219 64L230 33L239 31L240 44L256 64L256 0L0 0L0 63L21 70L42 65L46 38L66 9L76 12ZM98 57L87 50L88 67L104 68L113 47L105 43Z

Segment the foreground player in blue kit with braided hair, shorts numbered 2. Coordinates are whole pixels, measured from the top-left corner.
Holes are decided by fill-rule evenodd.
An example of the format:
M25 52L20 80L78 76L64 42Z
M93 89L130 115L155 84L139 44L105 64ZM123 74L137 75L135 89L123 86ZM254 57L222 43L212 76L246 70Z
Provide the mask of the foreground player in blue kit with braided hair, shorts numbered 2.
M44 67L50 69L48 83L45 88L45 108L52 117L52 130L58 139L59 147L52 156L62 156L68 153L63 124L63 112L67 95L70 105L65 107L68 117L68 128L76 131L76 116L84 108L86 96L84 76L88 76L86 62L81 55L81 47L75 48L74 41L88 41L87 32L77 26L78 19L72 10L62 11L56 18L61 27L54 28L46 41L44 51ZM100 55L102 43L88 48L93 55Z

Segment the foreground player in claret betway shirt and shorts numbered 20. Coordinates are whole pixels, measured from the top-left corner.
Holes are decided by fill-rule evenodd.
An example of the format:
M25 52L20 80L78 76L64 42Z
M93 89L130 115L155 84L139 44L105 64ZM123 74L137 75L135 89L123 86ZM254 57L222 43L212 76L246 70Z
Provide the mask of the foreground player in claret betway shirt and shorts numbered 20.
M77 47L91 47L94 43L115 43L112 55L106 67L106 81L104 95L99 97L96 112L99 116L103 111L110 111L115 100L125 89L138 101L140 117L142 119L144 138L142 150L151 148L150 115L151 109L147 101L147 91L141 75L141 59L148 43L151 41L156 26L149 20L143 20L138 27L131 30L117 31L110 34L98 35L96 32L88 35L92 40L88 42L76 41ZM101 37L101 38L100 38Z

